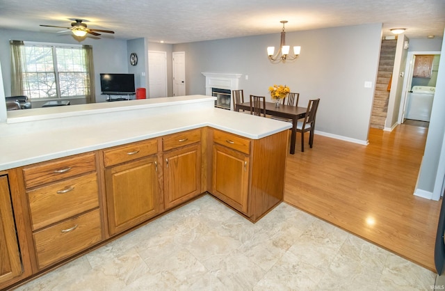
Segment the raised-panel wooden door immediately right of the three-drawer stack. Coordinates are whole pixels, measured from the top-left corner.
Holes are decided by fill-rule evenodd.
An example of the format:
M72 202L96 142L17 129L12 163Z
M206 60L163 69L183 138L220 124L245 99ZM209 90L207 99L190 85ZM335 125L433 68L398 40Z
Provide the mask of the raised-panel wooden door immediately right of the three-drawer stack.
M157 156L106 168L106 203L111 235L154 217L161 210Z

